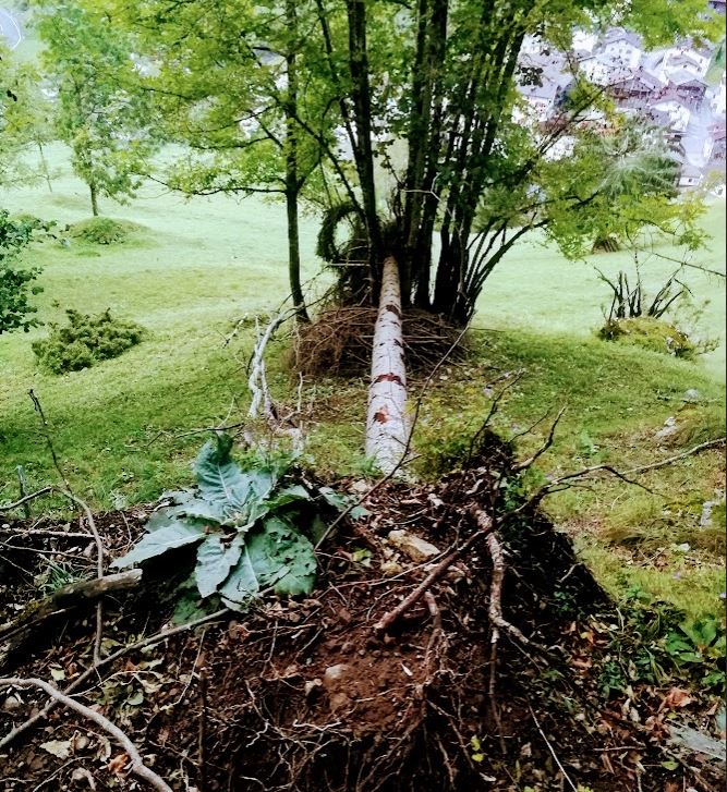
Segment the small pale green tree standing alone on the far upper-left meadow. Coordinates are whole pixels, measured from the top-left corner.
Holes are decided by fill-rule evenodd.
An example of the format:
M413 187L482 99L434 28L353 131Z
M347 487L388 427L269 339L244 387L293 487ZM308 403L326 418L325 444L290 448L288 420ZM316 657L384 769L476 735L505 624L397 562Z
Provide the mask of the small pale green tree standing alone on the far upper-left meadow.
M45 73L57 93L56 132L72 150L75 174L99 197L123 203L156 144L149 103L129 90L135 64L129 38L75 2L53 3L37 21Z

